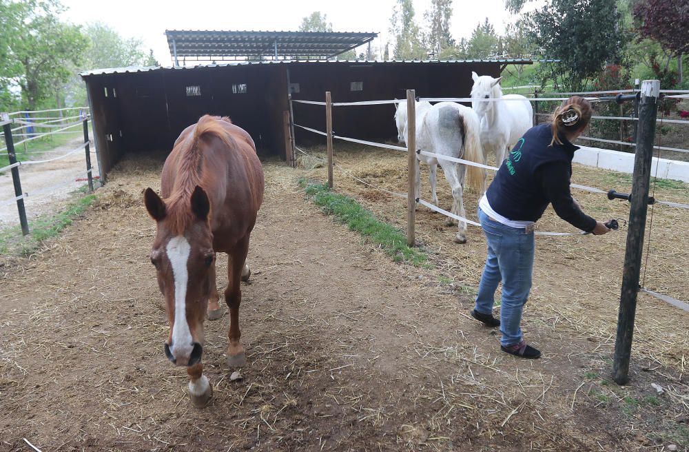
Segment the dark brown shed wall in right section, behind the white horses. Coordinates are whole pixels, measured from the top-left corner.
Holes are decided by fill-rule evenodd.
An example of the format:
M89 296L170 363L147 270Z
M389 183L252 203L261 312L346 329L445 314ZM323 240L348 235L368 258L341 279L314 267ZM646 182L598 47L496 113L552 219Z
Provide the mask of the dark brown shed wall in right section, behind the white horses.
M407 99L407 90L418 97L469 97L471 71L500 76L497 63L304 63L289 68L291 83L299 83L293 99L325 101L330 91L333 102ZM363 91L351 91L350 82L362 81ZM394 105L333 107L333 131L364 140L386 140L397 136ZM325 131L325 110L320 105L294 103L295 123ZM325 137L296 129L297 143L323 143Z

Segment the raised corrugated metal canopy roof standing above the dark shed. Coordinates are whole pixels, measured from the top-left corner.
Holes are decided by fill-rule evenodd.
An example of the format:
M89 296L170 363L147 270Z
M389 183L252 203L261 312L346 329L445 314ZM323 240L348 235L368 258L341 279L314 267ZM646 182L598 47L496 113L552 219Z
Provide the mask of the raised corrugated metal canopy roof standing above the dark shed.
M363 45L373 32L165 30L173 59L223 56L335 56Z

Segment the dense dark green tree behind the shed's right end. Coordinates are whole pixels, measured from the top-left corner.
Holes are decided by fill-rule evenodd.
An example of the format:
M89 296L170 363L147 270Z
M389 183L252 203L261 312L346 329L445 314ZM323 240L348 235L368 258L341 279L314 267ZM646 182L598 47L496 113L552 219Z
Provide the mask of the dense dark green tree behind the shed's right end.
M546 58L560 60L554 75L570 89L619 63L624 35L613 1L551 0L526 20L528 37Z

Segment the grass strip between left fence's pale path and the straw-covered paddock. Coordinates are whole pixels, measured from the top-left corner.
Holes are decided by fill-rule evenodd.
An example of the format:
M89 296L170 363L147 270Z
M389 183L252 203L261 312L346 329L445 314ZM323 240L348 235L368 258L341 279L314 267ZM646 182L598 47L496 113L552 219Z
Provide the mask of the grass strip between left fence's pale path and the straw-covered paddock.
M59 234L65 227L72 224L74 218L80 216L96 199L95 194L84 196L85 189L77 189L72 201L60 212L52 215L39 216L29 222L29 235L21 235L21 227L14 226L0 230L0 252L2 254L19 254L30 256L34 254L43 240Z

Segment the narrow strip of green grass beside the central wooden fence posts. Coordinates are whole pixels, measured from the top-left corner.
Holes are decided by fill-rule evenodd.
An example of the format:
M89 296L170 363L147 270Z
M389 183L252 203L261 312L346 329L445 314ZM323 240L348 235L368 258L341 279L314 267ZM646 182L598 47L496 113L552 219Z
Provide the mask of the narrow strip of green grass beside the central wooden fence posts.
M327 184L309 183L305 178L299 179L299 185L306 192L307 198L318 205L323 213L334 216L351 231L359 232L367 240L380 245L385 254L395 262L407 262L415 267L430 266L424 252L407 246L407 235L404 232L378 220L353 198L331 192Z

